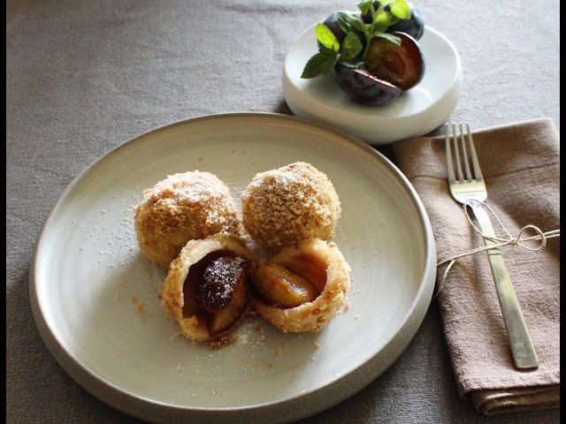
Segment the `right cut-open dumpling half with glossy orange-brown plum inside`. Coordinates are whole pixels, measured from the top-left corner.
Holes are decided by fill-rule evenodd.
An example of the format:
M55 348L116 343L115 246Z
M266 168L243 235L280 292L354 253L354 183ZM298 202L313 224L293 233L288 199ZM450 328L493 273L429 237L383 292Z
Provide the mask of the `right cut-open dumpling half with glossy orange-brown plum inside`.
M285 332L317 332L347 305L349 273L336 243L300 241L256 270L252 301Z

